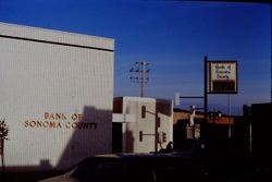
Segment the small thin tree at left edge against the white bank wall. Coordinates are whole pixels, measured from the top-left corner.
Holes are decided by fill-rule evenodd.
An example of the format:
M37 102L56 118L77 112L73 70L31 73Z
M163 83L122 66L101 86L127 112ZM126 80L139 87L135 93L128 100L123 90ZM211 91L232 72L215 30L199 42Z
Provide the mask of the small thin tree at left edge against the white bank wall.
M4 167L4 141L8 139L9 128L4 122L4 119L0 121L0 156L2 161L2 172L5 171Z

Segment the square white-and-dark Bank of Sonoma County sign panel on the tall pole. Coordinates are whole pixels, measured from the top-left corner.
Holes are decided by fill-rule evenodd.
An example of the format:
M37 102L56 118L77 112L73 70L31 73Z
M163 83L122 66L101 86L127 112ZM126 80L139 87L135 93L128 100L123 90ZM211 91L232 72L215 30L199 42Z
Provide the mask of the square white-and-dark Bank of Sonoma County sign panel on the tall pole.
M209 61L209 93L237 94L237 61Z

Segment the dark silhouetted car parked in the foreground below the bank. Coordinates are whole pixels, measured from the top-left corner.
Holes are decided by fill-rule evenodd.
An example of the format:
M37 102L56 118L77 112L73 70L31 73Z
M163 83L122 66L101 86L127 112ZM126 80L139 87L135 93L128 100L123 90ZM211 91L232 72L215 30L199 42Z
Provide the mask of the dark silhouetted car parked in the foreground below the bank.
M63 175L40 182L180 182L207 181L200 160L189 155L107 154L88 157Z

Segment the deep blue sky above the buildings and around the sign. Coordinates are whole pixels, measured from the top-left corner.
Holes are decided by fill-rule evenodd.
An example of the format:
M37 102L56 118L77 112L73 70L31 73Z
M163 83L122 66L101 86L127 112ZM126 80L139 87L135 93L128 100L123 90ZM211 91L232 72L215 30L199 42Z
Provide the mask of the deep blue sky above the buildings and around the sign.
M243 105L271 101L271 7L263 3L0 0L0 22L114 38L114 96L139 96L135 62L149 62L147 97L202 95L203 57L238 61ZM182 100L181 107L201 107ZM209 95L209 109L226 112L227 95Z

